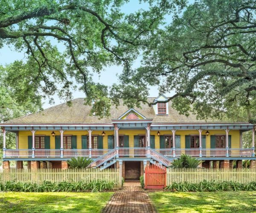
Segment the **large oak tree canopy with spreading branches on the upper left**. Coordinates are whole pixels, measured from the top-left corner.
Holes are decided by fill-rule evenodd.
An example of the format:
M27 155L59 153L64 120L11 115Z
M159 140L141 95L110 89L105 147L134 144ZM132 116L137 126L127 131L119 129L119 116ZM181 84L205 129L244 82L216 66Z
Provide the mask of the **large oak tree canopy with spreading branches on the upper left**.
M86 95L85 103L94 101L91 113L99 118L108 116L112 104L108 87L93 81L93 75L111 65L122 65L128 73L140 52L157 36L165 15L180 11L186 1L138 1L138 7L146 6L137 9L133 5L131 13L123 9L128 3L0 0L0 48L8 45L25 56L13 63L13 72L21 77L12 77L21 88L16 88L20 96L24 98L26 88L33 88L35 95L52 102L53 95L70 101L75 81Z

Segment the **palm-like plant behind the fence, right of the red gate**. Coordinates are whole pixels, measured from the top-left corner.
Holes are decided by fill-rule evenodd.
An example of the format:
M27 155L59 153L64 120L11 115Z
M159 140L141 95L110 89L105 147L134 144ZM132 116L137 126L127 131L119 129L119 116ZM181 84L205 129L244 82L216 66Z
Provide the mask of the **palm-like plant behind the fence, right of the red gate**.
M193 158L189 155L181 155L180 158L175 159L171 167L172 168L196 168L203 161L199 161L197 158Z

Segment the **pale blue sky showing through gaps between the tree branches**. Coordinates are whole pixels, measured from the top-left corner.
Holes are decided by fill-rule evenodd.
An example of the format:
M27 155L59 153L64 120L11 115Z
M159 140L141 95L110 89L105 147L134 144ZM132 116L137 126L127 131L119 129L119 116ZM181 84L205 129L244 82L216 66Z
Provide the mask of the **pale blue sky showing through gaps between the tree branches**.
M189 1L189 3L190 3L190 1ZM129 3L125 4L122 7L122 10L125 13L131 13L131 12L135 12L137 9L140 9L140 8L145 9L147 7L148 6L146 3L138 4L138 1L131 0ZM169 17L168 17L168 19L169 19ZM3 46L3 48L0 49L0 64L1 65L6 65L6 64L14 62L15 60L22 60L24 58L25 58L24 53L16 52L12 47L10 48L9 46ZM140 59L134 61L133 68L137 68L139 66L140 66ZM108 67L105 67L105 71L101 72L100 75L94 74L93 80L95 82L104 83L107 86L111 86L113 83L118 83L118 78L116 75L120 74L121 72L122 72L122 66L108 66ZM150 91L149 91L150 97L157 97L159 95L157 86L151 86L149 88L150 88ZM171 93L165 94L165 95L169 96L169 95L173 95L173 94L174 94L174 92L171 92ZM79 91L78 89L73 90L73 98L84 98L84 97L85 97L85 95L83 92ZM64 100L61 100L60 98L58 98L57 95L53 95L53 98L55 100L55 104L52 104L52 105L64 103ZM47 99L43 100L43 108L44 109L49 108L52 105L49 104Z

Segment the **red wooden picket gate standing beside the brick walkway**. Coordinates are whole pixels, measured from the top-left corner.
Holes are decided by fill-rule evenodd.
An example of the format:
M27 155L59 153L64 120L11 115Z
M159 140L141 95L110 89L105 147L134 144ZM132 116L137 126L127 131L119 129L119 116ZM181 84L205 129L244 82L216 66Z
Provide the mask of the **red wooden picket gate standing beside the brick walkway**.
M151 164L145 168L145 189L163 189L166 187L166 167Z

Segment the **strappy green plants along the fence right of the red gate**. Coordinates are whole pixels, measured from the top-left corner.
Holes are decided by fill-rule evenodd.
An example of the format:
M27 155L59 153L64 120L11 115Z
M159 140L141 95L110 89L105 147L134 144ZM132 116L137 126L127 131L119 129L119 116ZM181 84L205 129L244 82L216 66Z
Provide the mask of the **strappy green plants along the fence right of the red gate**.
M173 182L166 189L178 192L216 192L216 191L255 191L256 182L240 184L233 181L217 183L215 181L202 181L200 183Z

